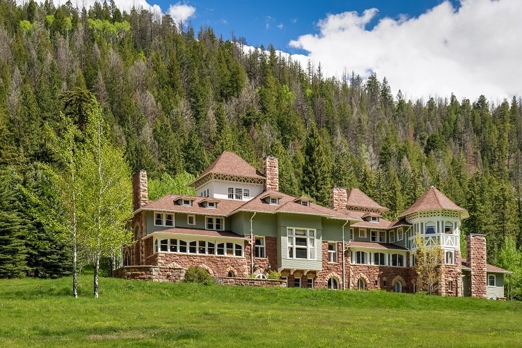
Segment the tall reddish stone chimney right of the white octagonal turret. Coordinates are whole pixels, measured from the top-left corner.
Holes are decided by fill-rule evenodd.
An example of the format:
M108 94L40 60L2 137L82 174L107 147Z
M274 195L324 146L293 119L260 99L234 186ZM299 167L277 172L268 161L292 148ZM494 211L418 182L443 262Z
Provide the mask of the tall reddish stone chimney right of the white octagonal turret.
M486 236L471 234L466 236L466 263L471 269L470 295L485 299L487 296L487 256L486 256Z

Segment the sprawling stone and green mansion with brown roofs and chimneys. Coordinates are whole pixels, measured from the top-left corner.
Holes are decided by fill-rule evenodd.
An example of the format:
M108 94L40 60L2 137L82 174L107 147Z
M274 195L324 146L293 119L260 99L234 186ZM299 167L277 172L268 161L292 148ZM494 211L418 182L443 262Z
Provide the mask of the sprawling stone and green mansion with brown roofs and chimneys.
M277 158L266 157L262 168L223 152L191 184L197 196L154 201L145 171L136 173L135 244L125 248L116 276L178 281L198 266L221 284L415 292L420 235L444 251L439 294L486 297L488 279L502 283L487 278L483 236L468 238L468 258L461 262L460 223L467 212L434 187L398 221L387 221L382 213L388 209L358 189L333 187L331 207L321 207L278 191ZM267 280L270 271L281 280Z

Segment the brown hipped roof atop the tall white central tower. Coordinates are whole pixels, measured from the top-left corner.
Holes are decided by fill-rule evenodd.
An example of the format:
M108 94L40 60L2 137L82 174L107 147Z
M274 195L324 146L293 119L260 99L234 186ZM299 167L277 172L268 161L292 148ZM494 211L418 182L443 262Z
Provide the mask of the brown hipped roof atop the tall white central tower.
M253 166L248 164L248 162L236 155L234 152L230 151L225 151L219 155L219 157L216 158L194 182L209 173L228 174L239 177L259 177L265 179L265 176L262 173L257 171Z

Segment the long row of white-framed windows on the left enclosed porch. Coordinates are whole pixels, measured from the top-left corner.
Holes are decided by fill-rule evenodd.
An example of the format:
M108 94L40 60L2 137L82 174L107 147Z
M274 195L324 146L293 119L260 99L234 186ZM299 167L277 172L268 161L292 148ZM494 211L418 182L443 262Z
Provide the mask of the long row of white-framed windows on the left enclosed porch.
M155 239L155 253L184 253L200 255L243 256L243 246L236 243L186 241L183 239Z

